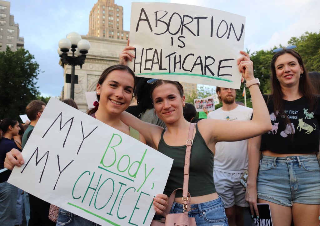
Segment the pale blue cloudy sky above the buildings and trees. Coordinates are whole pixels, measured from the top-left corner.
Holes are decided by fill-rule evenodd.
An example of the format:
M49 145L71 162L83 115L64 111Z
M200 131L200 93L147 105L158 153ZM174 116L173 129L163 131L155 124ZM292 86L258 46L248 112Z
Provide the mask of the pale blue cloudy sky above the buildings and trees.
M86 35L89 13L97 0L12 0L11 14L19 23L24 47L35 56L44 71L37 86L43 96L60 96L63 70L59 65L58 42L69 32ZM124 30L130 30L131 2L115 0L124 8ZM148 1L154 2L154 1ZM320 31L319 0L172 0L214 8L246 17L244 49L251 52L286 46L291 37Z

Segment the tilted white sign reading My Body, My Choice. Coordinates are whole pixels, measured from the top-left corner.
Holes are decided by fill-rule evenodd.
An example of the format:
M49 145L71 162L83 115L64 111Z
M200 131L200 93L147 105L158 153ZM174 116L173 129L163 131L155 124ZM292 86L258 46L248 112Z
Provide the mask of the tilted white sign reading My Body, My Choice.
M51 98L9 183L101 225L150 225L173 160Z

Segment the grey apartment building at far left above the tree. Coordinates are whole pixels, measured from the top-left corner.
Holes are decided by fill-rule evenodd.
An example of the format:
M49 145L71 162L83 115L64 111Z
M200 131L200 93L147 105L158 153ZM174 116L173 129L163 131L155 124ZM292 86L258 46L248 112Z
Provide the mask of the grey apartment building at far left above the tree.
M19 36L19 24L14 23L14 16L10 14L10 2L0 0L0 51L7 46L15 51L24 46L24 38Z

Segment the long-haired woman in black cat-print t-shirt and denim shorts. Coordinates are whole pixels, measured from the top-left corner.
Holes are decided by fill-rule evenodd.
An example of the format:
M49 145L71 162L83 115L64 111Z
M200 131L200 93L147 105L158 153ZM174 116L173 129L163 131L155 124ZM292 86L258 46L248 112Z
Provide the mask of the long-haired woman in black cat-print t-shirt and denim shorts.
M275 226L290 226L292 220L295 226L317 226L320 97L312 92L295 47L272 51L272 93L264 98L273 126L268 133L252 139L246 201L252 216L261 214L257 198L258 203L268 203Z

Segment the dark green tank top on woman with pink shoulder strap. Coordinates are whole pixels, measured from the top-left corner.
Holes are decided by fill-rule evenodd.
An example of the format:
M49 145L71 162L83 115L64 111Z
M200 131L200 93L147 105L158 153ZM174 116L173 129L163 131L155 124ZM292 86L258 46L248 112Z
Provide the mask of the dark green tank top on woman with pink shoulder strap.
M173 159L168 181L164 188L164 194L169 197L175 189L183 188L183 171L187 146L167 145L163 139L164 131L161 134L158 151ZM201 136L197 124L196 135L191 148L188 191L191 197L216 192L213 183L213 153ZM182 197L182 190L177 191L176 197Z

